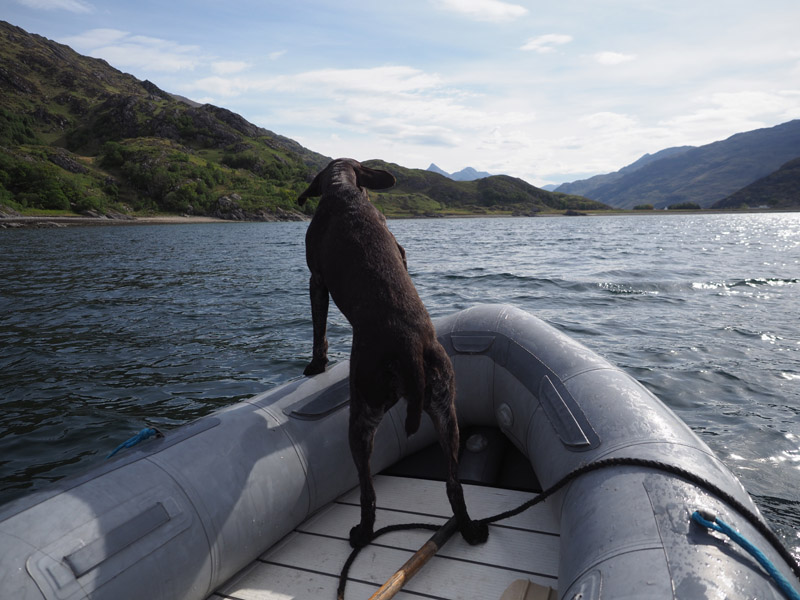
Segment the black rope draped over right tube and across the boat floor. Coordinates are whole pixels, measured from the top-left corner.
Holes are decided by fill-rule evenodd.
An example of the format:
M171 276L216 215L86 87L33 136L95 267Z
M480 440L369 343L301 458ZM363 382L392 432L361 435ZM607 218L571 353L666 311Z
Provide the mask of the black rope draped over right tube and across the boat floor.
M742 517L744 517L744 519L770 543L773 549L780 555L780 557L786 562L786 564L789 565L789 567L792 570L792 573L794 573L798 581L800 581L800 563L798 563L795 560L795 558L791 555L791 553L783 546L780 538L778 538L775 532L773 532L769 528L769 526L767 526L767 524L764 523L747 506L739 502L731 494L721 489L720 487L716 486L715 484L711 483L707 479L703 479L702 477L692 473L691 471L687 471L686 469L683 469L681 467L662 463L657 460L650 460L646 458L620 457L620 458L606 458L592 463L588 463L586 465L583 465L582 467L578 467L574 471L567 473L555 484L551 485L549 488L542 491L538 495L534 496L527 502L521 504L517 508L494 515L493 517L480 519L479 522L486 523L488 525L490 523L496 523L497 521L502 521L504 519L516 516L522 512L525 512L532 506L535 506L540 502L544 502L547 498L558 492L565 485L567 485L571 481L574 481L575 479L578 479L583 475L586 475L587 473L591 473L593 471L599 471L601 469L606 469L608 467L620 467L620 466L646 467L649 469L654 469L656 471L663 471L671 475L677 475L689 481L690 483L693 483L702 490L716 496L718 499L722 500L726 504L730 505L734 510L736 510L736 512L738 512ZM388 527L384 527L383 529L379 529L378 531L376 531L372 535L372 539L370 540L369 543L372 543L373 541L375 541L375 539L386 533L391 533L392 531L401 531L405 529L435 530L438 529L438 525L432 525L430 523L408 523L404 525L390 525ZM339 588L337 590L337 600L344 599L344 588L345 585L347 584L347 574L350 572L350 567L352 566L353 561L355 561L356 556L358 556L359 552L361 552L361 548L354 548L353 551L350 553L350 556L348 557L347 561L345 562L344 567L342 567L342 572L339 575Z

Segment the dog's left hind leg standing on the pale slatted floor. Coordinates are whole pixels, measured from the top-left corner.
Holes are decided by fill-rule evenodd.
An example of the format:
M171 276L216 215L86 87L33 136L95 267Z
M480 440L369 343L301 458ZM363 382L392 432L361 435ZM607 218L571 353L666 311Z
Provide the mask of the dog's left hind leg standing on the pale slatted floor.
M358 392L350 388L350 452L358 471L361 487L361 522L350 530L350 545L361 548L372 541L375 526L375 488L372 485L369 459L383 411L368 408L362 398L354 397Z

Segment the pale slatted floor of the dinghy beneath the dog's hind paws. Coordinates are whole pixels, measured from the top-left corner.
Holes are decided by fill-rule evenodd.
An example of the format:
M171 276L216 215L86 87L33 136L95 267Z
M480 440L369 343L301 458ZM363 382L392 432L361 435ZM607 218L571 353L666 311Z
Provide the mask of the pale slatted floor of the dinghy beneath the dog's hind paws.
M443 524L452 514L440 481L379 475L375 527ZM514 508L528 492L465 485L473 518ZM350 554L350 528L359 520L358 489L312 515L209 600L336 598L339 573ZM345 597L369 598L431 536L430 531L387 534L364 548L350 569ZM498 599L517 579L557 587L558 524L546 505L492 525L489 540L469 546L454 535L397 596L398 599Z

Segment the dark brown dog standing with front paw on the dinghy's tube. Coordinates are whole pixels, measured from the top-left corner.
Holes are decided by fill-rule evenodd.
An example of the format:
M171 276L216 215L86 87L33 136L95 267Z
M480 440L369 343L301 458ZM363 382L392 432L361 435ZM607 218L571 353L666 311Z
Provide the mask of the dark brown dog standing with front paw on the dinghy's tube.
M408 403L407 435L419 428L423 410L430 415L448 463L447 496L458 529L468 543L479 544L489 530L470 519L458 481L453 366L408 274L405 250L365 189L394 184L387 171L341 158L325 167L297 199L303 205L307 198L321 196L306 232L314 346L304 374L321 373L328 362L330 294L353 327L349 442L361 488L361 522L350 531L351 546L362 547L372 539L370 455L378 424L401 396Z

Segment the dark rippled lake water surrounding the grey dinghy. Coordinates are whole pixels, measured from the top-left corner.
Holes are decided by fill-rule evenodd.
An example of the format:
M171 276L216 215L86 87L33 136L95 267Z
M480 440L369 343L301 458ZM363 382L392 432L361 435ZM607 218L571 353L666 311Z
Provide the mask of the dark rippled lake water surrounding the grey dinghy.
M0 231L0 503L301 374L306 223ZM390 221L432 315L545 319L642 381L800 556L800 214ZM333 308L331 357L350 329Z

